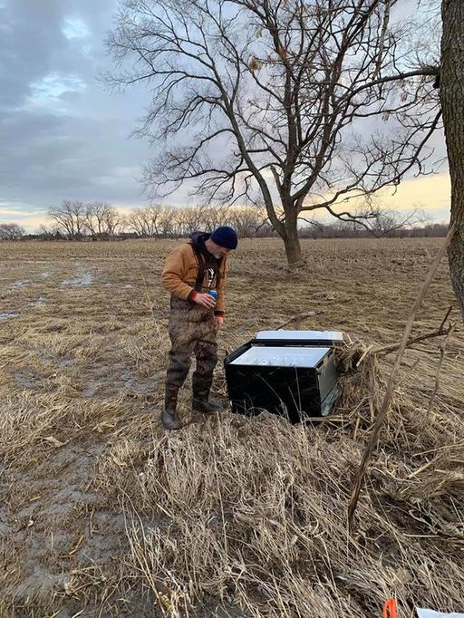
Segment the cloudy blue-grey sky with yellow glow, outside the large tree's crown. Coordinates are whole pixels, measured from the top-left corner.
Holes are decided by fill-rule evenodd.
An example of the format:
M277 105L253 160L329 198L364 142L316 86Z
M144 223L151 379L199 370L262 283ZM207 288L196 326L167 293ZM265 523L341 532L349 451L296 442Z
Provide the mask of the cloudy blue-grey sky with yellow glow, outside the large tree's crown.
M138 177L148 144L130 139L149 92L98 81L118 0L0 0L0 223L36 230L63 198L145 203ZM435 139L443 150L442 137ZM178 201L185 200L182 192ZM405 182L391 208L449 213L449 178Z

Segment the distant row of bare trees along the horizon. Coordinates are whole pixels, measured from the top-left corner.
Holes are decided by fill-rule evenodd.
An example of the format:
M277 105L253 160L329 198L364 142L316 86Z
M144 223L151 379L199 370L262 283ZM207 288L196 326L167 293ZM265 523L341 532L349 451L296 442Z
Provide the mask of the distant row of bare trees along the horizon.
M237 229L241 238L276 237L266 209L257 206L192 206L174 207L155 204L133 208L122 216L106 202L84 204L63 200L49 210L50 222L36 234L26 234L14 223L0 225L0 240L121 240L126 238L189 237L197 230L213 230L218 226ZM324 224L316 219L302 220L302 238L364 237L444 237L448 225L428 223L416 210L409 214L378 209L375 217L363 223L336 219Z

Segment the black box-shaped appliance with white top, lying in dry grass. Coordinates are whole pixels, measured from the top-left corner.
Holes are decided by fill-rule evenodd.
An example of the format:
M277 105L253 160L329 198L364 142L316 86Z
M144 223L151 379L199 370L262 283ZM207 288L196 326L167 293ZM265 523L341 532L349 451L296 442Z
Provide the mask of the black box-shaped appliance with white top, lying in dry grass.
M225 362L233 412L267 410L290 422L330 413L340 390L334 347L343 333L263 331L231 352Z

